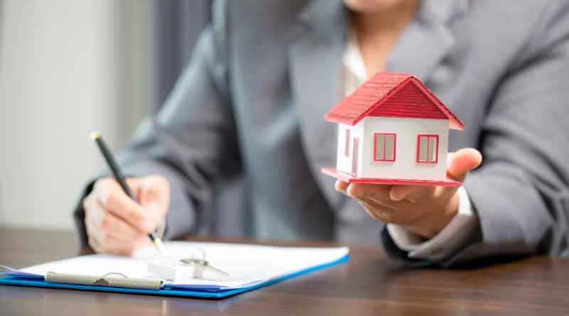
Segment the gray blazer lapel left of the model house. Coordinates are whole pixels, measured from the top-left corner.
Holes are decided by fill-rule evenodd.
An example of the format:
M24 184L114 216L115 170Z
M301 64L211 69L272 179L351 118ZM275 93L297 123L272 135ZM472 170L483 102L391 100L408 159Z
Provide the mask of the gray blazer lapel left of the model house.
M339 0L314 0L299 14L298 36L289 47L289 76L299 116L302 146L321 191L332 205L341 201L334 179L320 168L336 165L336 124L324 114L343 97L342 55L349 17Z

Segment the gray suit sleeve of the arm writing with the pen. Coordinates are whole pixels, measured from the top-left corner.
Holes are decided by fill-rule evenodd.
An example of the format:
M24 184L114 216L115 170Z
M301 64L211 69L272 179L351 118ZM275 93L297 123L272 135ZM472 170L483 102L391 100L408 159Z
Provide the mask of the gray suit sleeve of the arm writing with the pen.
M196 232L202 226L201 212L211 202L213 182L240 173L228 92L224 12L223 4L213 6L213 23L202 33L166 104L139 127L119 155L126 175L159 174L169 180L167 239ZM83 241L84 217L80 202L75 220Z

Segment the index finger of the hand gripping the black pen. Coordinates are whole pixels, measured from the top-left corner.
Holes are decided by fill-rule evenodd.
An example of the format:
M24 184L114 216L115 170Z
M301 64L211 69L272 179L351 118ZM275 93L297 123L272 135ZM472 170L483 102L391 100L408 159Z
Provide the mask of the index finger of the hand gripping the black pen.
M139 231L149 233L156 227L156 223L151 221L147 212L128 197L115 180L111 178L98 180L93 192L107 212L124 219Z

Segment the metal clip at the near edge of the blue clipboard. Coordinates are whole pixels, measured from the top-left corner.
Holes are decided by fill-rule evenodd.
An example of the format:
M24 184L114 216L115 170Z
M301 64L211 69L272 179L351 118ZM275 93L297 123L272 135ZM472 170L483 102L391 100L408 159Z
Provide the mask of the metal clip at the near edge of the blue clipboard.
M151 278L128 278L122 273L107 273L104 276L80 276L77 274L48 272L48 283L107 286L111 288L137 288L142 290L160 290L164 280Z

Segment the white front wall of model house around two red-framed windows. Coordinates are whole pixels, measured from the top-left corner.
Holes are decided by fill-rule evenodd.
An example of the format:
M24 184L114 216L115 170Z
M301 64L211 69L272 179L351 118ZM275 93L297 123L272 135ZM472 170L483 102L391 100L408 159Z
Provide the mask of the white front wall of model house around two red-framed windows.
M406 119L368 116L363 125L358 177L410 180L445 180L447 174L448 126L446 119ZM395 133L395 162L373 160L373 134ZM417 136L439 135L438 163L417 162ZM362 138L360 138L362 139ZM344 148L342 146L342 148ZM342 169L344 170L344 169Z

